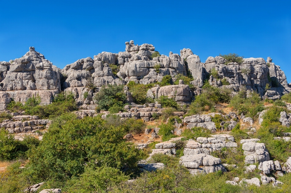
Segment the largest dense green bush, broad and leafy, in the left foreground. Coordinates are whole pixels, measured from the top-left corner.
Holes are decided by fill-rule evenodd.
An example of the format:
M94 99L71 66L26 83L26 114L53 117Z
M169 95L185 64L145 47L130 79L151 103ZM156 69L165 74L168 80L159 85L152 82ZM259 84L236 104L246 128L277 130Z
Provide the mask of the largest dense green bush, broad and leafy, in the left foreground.
M59 116L45 133L40 145L29 154L32 181L63 181L88 167L133 167L140 150L123 136L123 125L113 126L100 117L76 119L74 114Z

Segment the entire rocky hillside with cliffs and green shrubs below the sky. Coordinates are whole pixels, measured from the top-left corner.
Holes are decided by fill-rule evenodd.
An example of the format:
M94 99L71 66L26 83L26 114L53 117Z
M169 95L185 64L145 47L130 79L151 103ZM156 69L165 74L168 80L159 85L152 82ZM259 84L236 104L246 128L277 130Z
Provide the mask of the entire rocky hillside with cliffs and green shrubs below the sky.
M291 85L270 57L0 62L0 192L290 192Z

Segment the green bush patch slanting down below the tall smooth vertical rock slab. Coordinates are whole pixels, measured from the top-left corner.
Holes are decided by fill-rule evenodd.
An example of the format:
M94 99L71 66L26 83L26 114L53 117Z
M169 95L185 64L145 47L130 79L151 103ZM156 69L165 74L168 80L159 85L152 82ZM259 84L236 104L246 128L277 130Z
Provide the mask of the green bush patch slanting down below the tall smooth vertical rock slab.
M189 106L187 116L200 114L208 110L215 112L214 106L217 103L228 103L230 96L230 90L213 87L206 81L202 87L201 94L196 96L195 100Z

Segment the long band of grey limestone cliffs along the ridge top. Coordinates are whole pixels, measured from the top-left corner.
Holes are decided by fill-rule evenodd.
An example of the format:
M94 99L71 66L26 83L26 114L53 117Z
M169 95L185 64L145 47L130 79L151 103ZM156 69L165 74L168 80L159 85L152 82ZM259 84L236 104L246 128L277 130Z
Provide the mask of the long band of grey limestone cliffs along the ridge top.
M263 98L269 99L279 99L291 90L284 72L270 57L266 61L263 58L245 58L242 64L226 64L226 60L220 56L208 57L202 63L199 56L185 48L180 51L180 55L172 52L169 56L154 53L156 51L152 44L135 45L131 40L125 42L124 52L102 52L93 59L82 58L59 69L35 51L34 47L30 47L23 57L0 62L0 110L6 109L8 98L25 102L31 96L39 95L42 104L48 104L61 90L72 92L79 105L92 104L92 97L96 92L88 89L92 84L96 87L126 85L129 81L149 84L160 82L166 75L170 75L175 81L177 74L187 73L192 75L191 84L196 87L192 91L186 91L184 99L180 100L182 103L189 103L192 96L199 94L206 78L216 87L226 87L237 92L245 86L247 90L256 91ZM211 75L213 71L217 71L216 77ZM266 85L270 87L267 90ZM155 92L158 91L156 89ZM85 92L88 92L86 98ZM159 93L169 95L170 91Z

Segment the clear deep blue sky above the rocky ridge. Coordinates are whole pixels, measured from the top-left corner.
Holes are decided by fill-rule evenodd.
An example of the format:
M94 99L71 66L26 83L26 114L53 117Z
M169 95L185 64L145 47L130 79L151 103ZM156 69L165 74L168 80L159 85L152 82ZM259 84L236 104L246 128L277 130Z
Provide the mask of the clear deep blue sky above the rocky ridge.
M291 1L0 0L0 61L34 46L57 67L125 41L161 54L190 48L202 62L219 53L272 57L291 80Z

